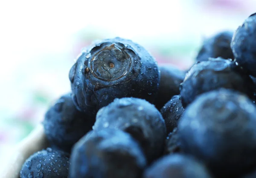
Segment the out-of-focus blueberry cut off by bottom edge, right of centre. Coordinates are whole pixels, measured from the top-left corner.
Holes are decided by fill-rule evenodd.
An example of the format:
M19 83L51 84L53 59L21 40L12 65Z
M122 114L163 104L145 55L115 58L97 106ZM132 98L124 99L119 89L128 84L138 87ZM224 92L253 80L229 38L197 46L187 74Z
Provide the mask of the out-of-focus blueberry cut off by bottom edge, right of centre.
M166 155L148 167L143 178L211 178L199 161L187 155Z

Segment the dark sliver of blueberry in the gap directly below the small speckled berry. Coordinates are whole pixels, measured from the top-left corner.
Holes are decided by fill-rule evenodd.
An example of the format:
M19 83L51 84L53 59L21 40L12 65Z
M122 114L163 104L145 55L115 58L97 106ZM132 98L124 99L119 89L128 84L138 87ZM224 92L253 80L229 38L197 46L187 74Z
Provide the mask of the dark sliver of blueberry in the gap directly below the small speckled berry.
M166 145L164 149L165 154L173 154L175 152L181 152L180 150L180 138L177 127L170 132L166 138Z

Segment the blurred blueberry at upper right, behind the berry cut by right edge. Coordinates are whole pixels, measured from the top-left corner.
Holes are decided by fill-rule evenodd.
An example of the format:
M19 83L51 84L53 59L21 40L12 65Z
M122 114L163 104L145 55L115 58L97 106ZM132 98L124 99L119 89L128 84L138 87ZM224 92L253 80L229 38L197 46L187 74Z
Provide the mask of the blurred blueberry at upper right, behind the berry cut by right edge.
M209 57L224 59L234 59L230 43L234 32L222 31L204 40L204 43L199 50L196 61L206 61Z

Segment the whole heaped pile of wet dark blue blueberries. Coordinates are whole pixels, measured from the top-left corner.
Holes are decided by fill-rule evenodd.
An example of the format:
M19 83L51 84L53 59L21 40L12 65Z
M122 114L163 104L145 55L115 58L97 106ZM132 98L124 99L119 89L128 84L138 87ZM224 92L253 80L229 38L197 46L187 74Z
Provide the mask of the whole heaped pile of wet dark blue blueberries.
M256 178L256 14L158 66L119 37L83 49L20 178Z

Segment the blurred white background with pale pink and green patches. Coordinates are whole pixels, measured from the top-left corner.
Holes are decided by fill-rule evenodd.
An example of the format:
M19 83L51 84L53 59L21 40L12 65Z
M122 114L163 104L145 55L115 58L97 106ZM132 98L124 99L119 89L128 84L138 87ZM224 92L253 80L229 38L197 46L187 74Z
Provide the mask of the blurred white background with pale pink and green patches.
M235 30L255 11L255 1L248 1L131 0L118 8L109 1L0 4L0 17L6 17L0 30L0 154L26 137L47 108L70 91L70 67L92 40L129 38L158 63L187 69L204 37Z

